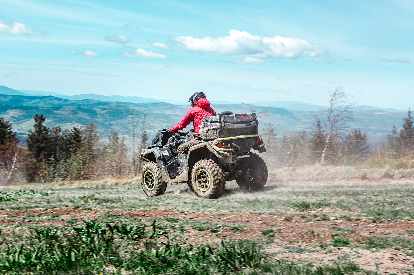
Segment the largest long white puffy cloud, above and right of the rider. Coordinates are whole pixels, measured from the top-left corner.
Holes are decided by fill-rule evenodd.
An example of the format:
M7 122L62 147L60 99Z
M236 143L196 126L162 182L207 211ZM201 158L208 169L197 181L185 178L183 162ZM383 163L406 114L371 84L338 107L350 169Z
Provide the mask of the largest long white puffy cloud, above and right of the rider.
M309 43L299 38L282 36L254 36L247 31L231 30L230 35L219 38L194 38L176 36L171 38L185 50L218 55L254 58L290 58L312 57L315 60L330 60L329 50L322 45Z

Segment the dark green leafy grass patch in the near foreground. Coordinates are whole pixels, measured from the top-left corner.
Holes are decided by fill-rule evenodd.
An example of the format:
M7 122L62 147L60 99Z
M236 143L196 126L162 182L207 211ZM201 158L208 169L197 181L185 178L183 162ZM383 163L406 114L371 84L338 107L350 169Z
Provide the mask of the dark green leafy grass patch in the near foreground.
M284 250L313 251L297 246ZM21 244L9 244L1 252L0 272L8 274L108 274L108 267L118 270L115 274L375 274L346 261L316 268L313 263L284 261L262 252L262 245L253 241L188 245L159 231L155 220L150 230L143 224L111 226L96 220L36 228Z

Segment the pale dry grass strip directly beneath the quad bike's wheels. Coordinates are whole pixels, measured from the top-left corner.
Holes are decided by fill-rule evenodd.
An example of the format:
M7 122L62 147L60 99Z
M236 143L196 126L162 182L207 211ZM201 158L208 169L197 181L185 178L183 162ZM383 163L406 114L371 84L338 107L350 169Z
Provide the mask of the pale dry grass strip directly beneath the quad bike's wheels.
M94 186L89 182L90 186ZM45 186L47 187L47 185ZM28 210L32 208L88 208L90 210L161 210L220 212L245 211L274 213L291 210L292 202L307 201L302 206L317 206L329 201L332 209L356 211L373 222L414 220L414 184L376 185L268 185L261 191L241 191L237 184L226 183L224 195L216 200L198 198L187 185L168 186L166 194L147 197L139 185L117 188L54 189L48 196L24 195L17 201L0 201L0 209ZM93 192L91 192L93 190ZM180 190L178 194L176 190ZM85 196L86 194L89 196ZM94 196L91 196L94 194ZM123 199L120 199L119 197ZM277 213L283 215L282 213ZM224 214L223 214L224 215ZM266 215L266 214L263 214ZM308 218L309 215L307 215ZM304 217L303 217L304 218ZM308 219L305 218L305 219ZM359 216L357 220L363 218ZM347 219L352 219L351 217ZM309 220L310 221L310 220Z

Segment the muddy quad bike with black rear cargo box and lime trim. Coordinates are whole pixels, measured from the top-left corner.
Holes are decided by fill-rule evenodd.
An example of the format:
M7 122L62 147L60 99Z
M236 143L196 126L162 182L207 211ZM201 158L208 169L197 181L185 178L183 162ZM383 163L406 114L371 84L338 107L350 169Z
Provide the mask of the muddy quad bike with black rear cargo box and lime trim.
M147 196L164 194L167 183L186 182L202 198L218 198L226 181L236 180L246 189L260 189L267 181L267 167L260 153L265 152L262 135L258 134L255 113L222 112L204 117L200 133L168 129L159 131L151 146L142 149L141 185ZM199 143L186 157L178 157L177 148L196 137Z

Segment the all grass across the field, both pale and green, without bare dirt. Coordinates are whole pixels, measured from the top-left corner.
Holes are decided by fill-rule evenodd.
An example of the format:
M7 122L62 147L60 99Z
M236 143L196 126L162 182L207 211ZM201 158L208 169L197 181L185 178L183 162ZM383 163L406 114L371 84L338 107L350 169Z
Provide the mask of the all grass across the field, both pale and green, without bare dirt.
M109 183L109 185L111 184ZM43 192L42 189L29 191L27 194L11 189L2 189L1 194L18 195L13 195L14 200L0 201L0 209L26 210L38 208L42 211L51 210L46 212L50 214L42 212L42 214L26 215L22 213L21 215L14 214L11 217L14 218L15 216L16 222L19 221L19 218L22 219L21 223L13 225L15 226L13 230L26 230L27 233L27 228L30 226L33 234L38 234L35 229L46 231L39 231L41 237L36 237L38 235L26 236L25 234L16 237L17 235L8 233L12 236L10 238L14 239L7 242L5 239L1 240L0 258L15 259L17 255L18 261L10 260L9 266L13 265L14 267L8 271L3 270L4 272L7 271L10 274L30 272L38 274L42 274L42 272L48 274L100 274L104 273L103 266L113 265L118 271L120 268L124 268L128 272L132 272L131 274L322 274L318 273L318 268L315 268L313 263L298 265L298 263L276 259L274 255L267 255L260 249L257 250L259 246L265 248L267 244L277 242L284 234L288 234L288 230L281 232L282 229L260 229L256 232L259 235L256 235L258 239L244 242L233 240L230 242L231 244L229 242L220 244L207 242L210 245L189 245L184 239L187 236L192 236L190 239L197 238L201 241L204 238L203 235L208 235L212 237L211 241L224 235L231 239L233 233L243 236L246 233L250 234L251 227L249 228L249 226L256 223L257 220L248 221L251 223L250 225L232 224L227 222L227 217L233 215L232 211L248 212L253 217L260 214L260 219L264 222L263 226L265 226L265 221L270 218L287 224L303 221L324 224L323 221L333 218L343 220L369 219L373 222L414 219L414 184L410 183L357 186L267 185L260 191L241 191L234 182L227 182L224 195L215 200L198 198L186 185L168 186L166 194L157 197L144 196L141 187L138 185L108 188L100 187L99 184L88 181L87 186L91 188L45 190L43 195L40 195ZM45 187L49 187L49 185L46 184ZM177 192L177 190L180 192ZM328 201L329 203L327 203ZM295 210L298 212L296 213L292 211L294 205L297 206ZM74 215L78 215L79 218L54 213L52 210L56 208L78 209ZM329 215L321 213L320 208L324 208L323 211L329 213ZM301 211L306 211L305 209L314 212L301 213ZM166 216L167 218L157 219L156 225L153 225L148 223L145 212L140 212L144 210L166 210L167 212L183 213L183 215L195 213L196 211L209 214L206 215L208 217L206 219L197 217L179 219ZM344 210L354 212L343 213ZM95 223L90 225L90 229L87 229L89 225L82 223L82 215L97 211L108 211L111 214L97 215L99 220L94 221ZM128 211L135 211L135 214L130 213L128 215ZM338 214L331 214L332 212ZM141 213L145 215L141 216ZM5 220L12 222L11 218ZM66 220L64 220L65 218ZM39 226L39 224L45 224L45 222L53 219L65 222L65 226ZM34 225L24 224L24 222L29 221L33 222ZM325 224L327 223L325 222ZM280 226L285 228L285 225ZM330 229L334 230L332 234L334 240L330 245L337 247L351 246L349 240L351 236L348 235L355 232L351 227L336 226L330 227ZM244 230L246 232L241 233ZM321 232L320 239L325 238L322 231L317 231ZM314 230L308 230L308 232L313 237L317 234L319 236L319 233ZM308 237L310 237L309 233L306 234ZM414 231L407 230L405 233L414 234ZM99 237L99 234L102 234L102 236ZM3 237L3 235L4 231L0 236ZM292 236L291 242L292 247L296 248L291 248L291 253L300 251L300 245L296 245L298 240L295 240L294 237L296 236ZM375 238L369 239L370 242L367 241L365 244L367 248L376 249L388 245L387 247L396 249L406 246L401 249L412 251L414 247L408 239L404 238ZM319 239L316 240L315 246L318 246L318 241ZM84 242L88 243L85 244ZM7 245L10 248L8 250ZM272 245L275 244L270 244L270 246ZM55 251L56 249L59 249L59 251ZM302 249L305 248L302 247ZM307 247L306 249L310 248ZM98 250L99 253L96 252ZM76 263L72 260L72 251L76 251L74 252ZM82 255L77 254L80 253L79 251L82 251ZM234 253L236 253L234 251L244 251L243 253L250 255L247 259L248 262L240 254L234 256ZM287 253L288 250L284 249L283 251ZM37 253L46 255L46 258L36 260L37 256L35 256L37 262L30 262L29 258L33 258L35 252L36 255L38 255ZM302 252L305 253L306 251ZM58 256L60 261L57 261L55 255ZM234 257L240 257L240 259ZM4 261L6 261L5 258ZM7 264L1 265L1 263L5 263L2 262L3 260L0 261L0 267L5 268ZM45 262L42 263L41 261ZM23 265L22 262L27 262L28 265ZM341 261L335 265L336 269L332 269L334 265L330 267L321 266L320 268L323 274L347 274L345 273L346 269L344 269L347 268L347 264L345 261ZM43 271L36 271L37 266L42 265L45 265ZM342 273L338 270L342 270ZM358 268L355 272L356 274L370 274L363 273L365 271Z

